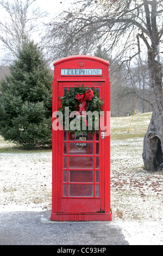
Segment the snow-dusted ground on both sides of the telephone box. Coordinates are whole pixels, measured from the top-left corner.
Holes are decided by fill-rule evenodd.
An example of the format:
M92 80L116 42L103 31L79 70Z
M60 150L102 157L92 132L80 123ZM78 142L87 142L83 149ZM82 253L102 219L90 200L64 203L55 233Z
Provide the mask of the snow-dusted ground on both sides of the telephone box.
M142 138L111 141L112 223L130 245L163 245L163 172L146 172ZM1 153L0 212L51 209L52 153Z

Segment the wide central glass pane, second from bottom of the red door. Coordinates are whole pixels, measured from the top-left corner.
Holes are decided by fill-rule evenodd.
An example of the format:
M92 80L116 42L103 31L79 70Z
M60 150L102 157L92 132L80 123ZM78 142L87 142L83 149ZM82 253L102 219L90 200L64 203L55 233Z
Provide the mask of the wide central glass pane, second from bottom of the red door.
M93 182L93 170L70 170L69 182Z

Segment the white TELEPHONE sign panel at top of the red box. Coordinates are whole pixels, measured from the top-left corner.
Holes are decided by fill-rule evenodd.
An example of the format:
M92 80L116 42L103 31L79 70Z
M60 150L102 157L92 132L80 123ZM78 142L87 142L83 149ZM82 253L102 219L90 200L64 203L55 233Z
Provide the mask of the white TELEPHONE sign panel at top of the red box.
M61 69L62 76L102 76L102 69Z

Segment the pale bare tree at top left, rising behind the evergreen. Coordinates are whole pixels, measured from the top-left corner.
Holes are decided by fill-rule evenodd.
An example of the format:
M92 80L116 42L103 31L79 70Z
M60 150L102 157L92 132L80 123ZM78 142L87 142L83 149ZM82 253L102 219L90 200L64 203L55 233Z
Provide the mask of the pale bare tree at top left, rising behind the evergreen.
M0 40L4 52L11 53L11 56L17 57L23 42L27 42L39 30L40 18L47 15L39 7L32 8L35 1L0 0Z

